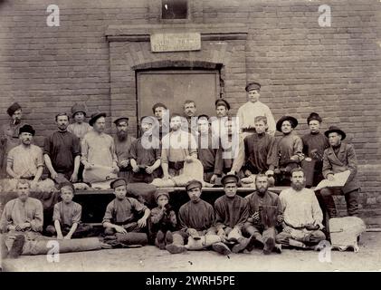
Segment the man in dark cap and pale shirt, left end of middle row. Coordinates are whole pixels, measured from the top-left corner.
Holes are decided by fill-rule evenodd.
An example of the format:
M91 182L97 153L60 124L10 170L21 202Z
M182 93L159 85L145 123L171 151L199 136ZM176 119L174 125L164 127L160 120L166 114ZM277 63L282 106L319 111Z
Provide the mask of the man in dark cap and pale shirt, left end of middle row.
M43 174L43 150L32 144L34 129L31 125L20 128L21 144L9 151L6 172L13 179L32 180L31 188Z

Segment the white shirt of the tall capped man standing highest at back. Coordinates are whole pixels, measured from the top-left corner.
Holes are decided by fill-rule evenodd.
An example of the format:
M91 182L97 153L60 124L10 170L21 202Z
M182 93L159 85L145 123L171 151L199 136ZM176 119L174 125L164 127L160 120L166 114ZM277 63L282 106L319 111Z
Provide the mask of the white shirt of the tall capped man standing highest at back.
M237 117L239 118L240 128L254 128L254 120L258 116L264 116L267 118L267 124L269 126L268 133L270 135L275 134L276 126L272 113L267 105L262 102L246 102L237 111Z

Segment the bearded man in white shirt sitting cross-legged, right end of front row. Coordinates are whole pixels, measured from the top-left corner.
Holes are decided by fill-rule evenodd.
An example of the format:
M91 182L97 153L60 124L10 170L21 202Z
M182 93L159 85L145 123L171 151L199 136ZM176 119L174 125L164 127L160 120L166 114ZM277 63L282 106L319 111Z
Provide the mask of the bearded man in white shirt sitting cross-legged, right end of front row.
M312 189L305 188L303 169L291 170L291 189L281 191L283 209L283 231L276 241L284 246L314 247L326 236L323 228L323 213Z

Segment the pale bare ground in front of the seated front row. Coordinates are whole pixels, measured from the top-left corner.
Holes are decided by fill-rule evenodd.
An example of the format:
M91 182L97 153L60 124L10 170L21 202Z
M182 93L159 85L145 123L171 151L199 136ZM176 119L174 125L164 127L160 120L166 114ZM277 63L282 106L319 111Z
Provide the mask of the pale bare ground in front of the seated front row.
M319 262L319 252L295 249L271 256L259 250L220 256L209 251L171 255L148 246L61 254L59 263L48 263L46 256L22 256L5 259L3 271L381 271L381 233L364 233L357 253L332 251L331 263Z

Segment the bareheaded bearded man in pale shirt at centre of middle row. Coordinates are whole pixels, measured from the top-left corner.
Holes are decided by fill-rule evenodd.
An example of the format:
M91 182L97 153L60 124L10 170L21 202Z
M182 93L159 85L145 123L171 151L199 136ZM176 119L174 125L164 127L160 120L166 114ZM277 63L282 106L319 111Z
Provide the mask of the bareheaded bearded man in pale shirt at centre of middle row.
M184 162L197 159L197 143L195 137L181 129L183 117L173 114L170 119L172 129L161 142L161 168L163 179L178 176L183 173Z

